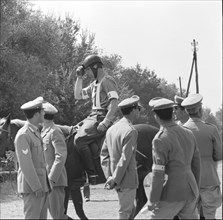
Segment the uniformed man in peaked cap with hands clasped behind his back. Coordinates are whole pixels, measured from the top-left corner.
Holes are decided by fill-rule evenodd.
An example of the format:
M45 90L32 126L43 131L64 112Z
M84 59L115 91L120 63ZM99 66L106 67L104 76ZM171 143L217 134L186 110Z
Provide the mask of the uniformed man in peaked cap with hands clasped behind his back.
M119 200L119 219L134 216L134 200L138 187L136 147L138 132L132 124L140 114L139 97L119 103L123 118L112 125L101 150L101 165L107 179L105 187L115 188Z

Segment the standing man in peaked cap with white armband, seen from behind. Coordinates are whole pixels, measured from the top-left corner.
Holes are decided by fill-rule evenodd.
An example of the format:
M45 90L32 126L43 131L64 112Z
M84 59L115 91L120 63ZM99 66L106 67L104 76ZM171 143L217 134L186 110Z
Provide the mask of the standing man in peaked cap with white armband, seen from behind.
M173 101L156 97L149 106L160 125L152 142L149 219L198 219L200 155L195 137L175 123Z

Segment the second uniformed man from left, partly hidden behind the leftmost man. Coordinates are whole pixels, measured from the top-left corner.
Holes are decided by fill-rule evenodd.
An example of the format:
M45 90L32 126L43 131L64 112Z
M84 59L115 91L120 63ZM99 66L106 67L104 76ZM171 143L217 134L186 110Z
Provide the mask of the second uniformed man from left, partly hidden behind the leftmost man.
M47 174L52 188L49 194L49 211L53 219L68 219L68 216L64 214L64 188L67 186L65 138L60 128L53 121L58 110L49 102L44 102L43 108L45 115L41 136Z

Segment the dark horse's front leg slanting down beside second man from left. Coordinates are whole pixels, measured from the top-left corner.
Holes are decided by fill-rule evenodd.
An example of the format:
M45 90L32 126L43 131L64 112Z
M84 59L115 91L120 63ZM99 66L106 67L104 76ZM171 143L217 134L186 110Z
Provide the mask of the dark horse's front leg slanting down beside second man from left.
M82 194L81 194L80 187L73 187L71 189L70 193L71 193L71 198L72 198L77 216L80 219L88 219L87 216L84 213L83 199L82 199Z

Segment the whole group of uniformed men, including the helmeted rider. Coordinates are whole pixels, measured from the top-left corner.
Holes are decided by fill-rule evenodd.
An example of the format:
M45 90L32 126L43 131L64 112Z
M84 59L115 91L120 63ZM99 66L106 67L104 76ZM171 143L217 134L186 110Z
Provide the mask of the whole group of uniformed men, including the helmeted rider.
M132 125L140 116L140 98L135 95L118 104L115 80L105 73L97 55L86 57L76 73L75 98L86 99L90 95L92 98L92 111L75 135L77 151L89 182L95 184L97 173L92 152L100 144L96 140L105 136L100 152L107 179L105 187L117 192L119 219L131 219L138 187L135 158L138 133ZM88 73L95 79L82 88L83 76ZM217 162L222 160L222 142L217 128L201 120L201 101L202 96L195 94L181 103L160 97L149 102L160 125L153 139L151 192L146 206L150 219L175 216L198 219L199 215L214 219L221 205ZM183 126L174 118L180 106L189 116ZM66 146L62 132L53 123L57 110L41 98L25 103L21 109L27 123L17 133L15 147L19 162L18 192L23 195L25 218L46 218L49 207L54 219L67 219L63 206ZM118 109L123 117L114 123ZM39 123L43 123L41 133Z

